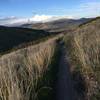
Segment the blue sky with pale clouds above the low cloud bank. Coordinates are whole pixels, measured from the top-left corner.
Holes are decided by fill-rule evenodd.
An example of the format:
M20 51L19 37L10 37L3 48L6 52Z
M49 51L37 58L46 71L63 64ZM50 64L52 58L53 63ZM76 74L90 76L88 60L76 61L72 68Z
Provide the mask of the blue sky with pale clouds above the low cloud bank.
M33 18L44 20L52 16L80 18L100 15L100 0L0 0L0 19Z

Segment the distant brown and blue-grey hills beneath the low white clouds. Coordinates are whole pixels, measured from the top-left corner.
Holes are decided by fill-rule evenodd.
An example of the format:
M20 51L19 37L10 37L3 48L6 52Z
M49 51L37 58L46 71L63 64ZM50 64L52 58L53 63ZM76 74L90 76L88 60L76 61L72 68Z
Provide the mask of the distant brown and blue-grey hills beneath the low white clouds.
M23 24L21 27L32 28L32 29L43 29L50 32L62 32L69 31L76 28L78 25L91 20L91 18L81 18L81 19L59 19L44 23L35 24Z

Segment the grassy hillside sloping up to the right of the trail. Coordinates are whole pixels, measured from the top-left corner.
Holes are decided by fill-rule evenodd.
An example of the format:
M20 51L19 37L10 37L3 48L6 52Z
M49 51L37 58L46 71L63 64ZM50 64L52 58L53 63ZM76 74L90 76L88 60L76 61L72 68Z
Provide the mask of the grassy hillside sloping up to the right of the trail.
M66 51L80 100L100 100L100 18L67 34Z

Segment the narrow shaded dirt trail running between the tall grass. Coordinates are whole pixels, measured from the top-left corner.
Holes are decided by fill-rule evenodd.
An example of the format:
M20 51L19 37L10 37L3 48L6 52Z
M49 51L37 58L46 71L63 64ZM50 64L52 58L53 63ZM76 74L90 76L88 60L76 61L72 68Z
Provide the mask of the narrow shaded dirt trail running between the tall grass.
M58 71L58 82L57 82L57 100L77 100L75 97L71 73L70 73L70 65L66 59L65 48L62 47L62 55L59 64Z

